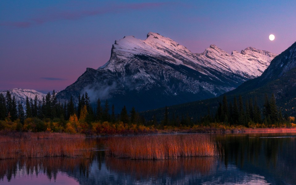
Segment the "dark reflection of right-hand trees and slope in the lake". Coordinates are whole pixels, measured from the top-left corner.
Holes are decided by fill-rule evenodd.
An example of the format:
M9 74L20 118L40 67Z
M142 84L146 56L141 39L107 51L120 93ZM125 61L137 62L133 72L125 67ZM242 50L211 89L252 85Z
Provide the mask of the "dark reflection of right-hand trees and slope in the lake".
M264 176L272 184L295 184L295 134L233 134L219 136L224 164Z

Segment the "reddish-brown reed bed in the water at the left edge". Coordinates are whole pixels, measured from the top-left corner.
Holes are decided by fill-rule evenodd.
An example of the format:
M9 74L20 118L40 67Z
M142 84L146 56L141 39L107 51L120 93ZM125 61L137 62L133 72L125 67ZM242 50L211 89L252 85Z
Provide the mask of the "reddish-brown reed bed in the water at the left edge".
M91 155L92 142L84 135L60 133L15 133L0 136L0 159L39 157L85 157Z

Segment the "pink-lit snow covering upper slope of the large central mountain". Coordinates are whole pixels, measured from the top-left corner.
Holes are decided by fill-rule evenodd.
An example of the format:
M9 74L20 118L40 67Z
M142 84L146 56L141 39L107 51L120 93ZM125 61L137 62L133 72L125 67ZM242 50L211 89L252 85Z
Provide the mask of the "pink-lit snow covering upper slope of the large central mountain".
M116 54L112 55L113 53ZM212 73L206 69L215 68L220 72L236 73L248 79L260 76L276 56L271 52L253 47L248 47L241 53L232 51L232 55L229 55L215 45L211 45L203 53L192 53L172 39L152 32L148 33L145 40L126 36L115 41L112 54L110 61L129 60L134 55L148 55L173 64L185 65L209 76L212 76ZM116 62L108 62L104 67L117 71L122 68L122 65L124 63L118 65Z

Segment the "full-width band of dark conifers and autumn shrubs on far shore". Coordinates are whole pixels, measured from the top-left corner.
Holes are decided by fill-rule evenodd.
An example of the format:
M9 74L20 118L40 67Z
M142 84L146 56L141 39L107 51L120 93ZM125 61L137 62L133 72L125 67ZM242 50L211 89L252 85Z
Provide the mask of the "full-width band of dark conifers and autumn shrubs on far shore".
M288 116L282 117L282 113L277 109L273 94L270 99L265 94L265 103L262 111L257 105L257 99L249 99L249 101L244 102L242 97L239 96L238 100L234 97L233 101L228 102L227 97L224 96L222 103L219 102L215 114L208 109L208 115L194 119L188 114L178 115L176 113L175 115L174 112L170 112L169 108L166 107L162 121L158 121L155 115L149 121L146 121L134 107L128 113L124 106L120 114L115 114L114 105L111 106L110 111L108 100L102 103L98 99L96 108L93 109L87 92L82 94L82 96L79 95L77 105L74 104L73 97L68 102L60 103L57 101L56 93L53 90L51 94L48 92L42 100L38 100L37 96L35 96L34 100L26 97L24 107L20 102L16 102L15 97L11 97L9 91L6 92L5 97L1 93L0 120L6 120L6 122L9 122L9 120L16 121L17 130L24 128L24 130L45 131L51 128L49 130L59 132L87 133L89 130L92 130L92 132L104 133L106 131L102 128L112 127L112 130L116 127L116 132L120 133L120 130L129 130L132 127L139 129L141 125L152 126L151 128L155 126L158 129L170 126L174 128L210 125L211 123L221 123L229 126L243 125L246 127L254 124L262 124L268 127L273 125L279 126L279 124L288 120ZM34 124L31 124L33 122ZM13 125L13 123L11 124ZM6 124L6 126L0 125L0 130L2 127L12 128L11 124L10 126L9 124ZM115 132L112 131L111 133Z

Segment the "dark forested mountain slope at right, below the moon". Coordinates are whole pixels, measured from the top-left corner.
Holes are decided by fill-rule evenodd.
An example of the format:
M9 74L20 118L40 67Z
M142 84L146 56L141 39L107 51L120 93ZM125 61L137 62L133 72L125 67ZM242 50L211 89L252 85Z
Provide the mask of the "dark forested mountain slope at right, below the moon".
M296 116L296 42L276 56L261 76L248 80L219 97L174 105L168 107L168 110L175 115L187 114L190 117L199 118L208 114L208 111L215 113L224 95L228 101L232 101L234 96L238 98L239 95L242 96L244 102L249 101L250 98L257 99L259 107L262 107L265 93L268 97L274 94L282 115ZM144 111L142 115L148 120L154 115L161 119L164 111L164 108L159 108Z

